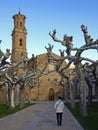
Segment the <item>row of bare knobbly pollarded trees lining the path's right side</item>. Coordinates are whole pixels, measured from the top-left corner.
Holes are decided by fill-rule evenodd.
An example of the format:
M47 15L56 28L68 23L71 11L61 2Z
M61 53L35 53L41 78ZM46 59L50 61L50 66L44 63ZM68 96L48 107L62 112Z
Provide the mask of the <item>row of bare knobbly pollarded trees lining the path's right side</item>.
M49 44L49 47L46 48L48 52L48 61L50 64L53 64L54 61L56 61L55 70L61 75L62 79L67 79L68 85L70 87L70 99L71 99L71 106L74 107L74 99L73 99L73 83L71 81L71 77L69 74L66 74L66 69L69 68L71 64L75 65L75 76L77 77L77 83L79 87L79 100L80 100L80 115L81 116L86 116L87 115L87 107L86 107L86 82L90 82L89 85L92 87L93 84L96 83L96 77L91 78L90 73L88 73L88 77L91 78L89 80L86 80L86 74L84 71L87 71L87 68L84 67L82 61L90 62L91 64L97 65L97 61L94 61L92 59L82 57L82 53L86 50L90 49L95 49L98 50L98 39L94 41L90 35L88 35L88 30L87 27L84 25L81 25L81 30L83 31L84 34L84 39L85 39L85 45L81 46L80 48L74 48L72 41L73 37L72 36L67 36L66 34L64 35L63 40L60 40L56 37L56 30L54 30L52 33L50 32L49 35L52 37L52 39L55 42L61 43L64 47L65 50L61 51L61 57L59 59L56 59L52 56L52 49L53 46ZM75 54L72 55L71 52L74 51ZM65 53L66 52L66 56ZM61 68L61 65L64 60L68 60L68 64ZM95 73L97 74L98 69L95 70ZM93 70L92 70L93 72ZM94 76L94 75L93 75ZM61 83L63 83L61 81ZM64 86L64 83L63 83ZM89 88L91 88L89 87ZM90 90L90 89L89 89Z

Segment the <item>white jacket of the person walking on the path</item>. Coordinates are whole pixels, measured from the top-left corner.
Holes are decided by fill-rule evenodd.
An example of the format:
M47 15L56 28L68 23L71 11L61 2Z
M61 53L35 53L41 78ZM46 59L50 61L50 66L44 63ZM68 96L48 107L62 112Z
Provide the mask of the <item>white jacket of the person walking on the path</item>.
M64 111L64 103L61 99L55 102L54 108L56 109L56 113L62 113Z

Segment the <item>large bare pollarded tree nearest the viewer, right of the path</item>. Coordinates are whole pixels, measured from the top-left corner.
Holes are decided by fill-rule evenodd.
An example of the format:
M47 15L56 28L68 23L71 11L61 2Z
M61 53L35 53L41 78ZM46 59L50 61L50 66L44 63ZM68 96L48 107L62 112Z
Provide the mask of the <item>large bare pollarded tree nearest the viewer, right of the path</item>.
M88 35L87 27L84 25L81 25L81 30L83 31L84 34L84 39L86 44L81 46L80 48L74 48L73 47L73 37L72 36L67 36L64 35L63 40L59 40L56 37L56 30L53 31L53 33L49 32L49 35L52 37L52 39L55 42L61 43L64 47L66 47L66 56L61 57L57 64L59 64L63 60L68 60L67 65L65 65L64 68L60 69L60 66L56 68L56 71L59 72L63 75L64 71L73 63L75 65L75 71L78 75L79 79L79 96L80 96L80 114L81 116L86 116L87 115L87 109L86 109L86 90L85 90L85 77L83 73L83 65L82 61L88 61L91 63L95 63L96 61L82 57L82 53L88 49L96 49L98 51L98 39L96 41L93 41L90 35ZM47 49L48 50L48 49ZM75 55L72 55L71 52L75 51ZM49 52L49 50L48 50ZM52 54L52 53L51 53ZM55 60L55 58L48 54L48 59L49 60ZM57 60L56 60L57 61ZM60 65L60 64L59 64Z

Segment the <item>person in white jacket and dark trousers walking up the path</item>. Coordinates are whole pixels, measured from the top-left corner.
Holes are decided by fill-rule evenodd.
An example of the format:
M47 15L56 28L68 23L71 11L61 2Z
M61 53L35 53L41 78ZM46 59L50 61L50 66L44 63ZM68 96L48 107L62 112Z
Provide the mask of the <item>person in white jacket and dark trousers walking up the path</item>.
M62 101L61 96L59 96L58 100L55 102L54 108L56 110L57 125L62 126L62 116L63 116L63 110L64 110L64 103Z

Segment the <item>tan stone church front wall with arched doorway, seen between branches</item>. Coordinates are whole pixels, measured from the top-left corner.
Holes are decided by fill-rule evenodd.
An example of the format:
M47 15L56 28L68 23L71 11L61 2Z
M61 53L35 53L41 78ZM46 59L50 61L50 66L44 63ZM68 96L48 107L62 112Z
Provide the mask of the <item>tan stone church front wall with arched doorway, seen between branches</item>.
M53 54L58 58L57 55ZM48 62L47 54L42 54L37 57L39 62L39 67L44 68L45 64ZM53 70L54 67L50 64L47 65L46 72ZM60 81L61 77L58 73L53 72L48 75L44 75L39 78L39 86L32 89L31 99L32 100L56 100L59 95L63 96L63 87L58 85L55 81ZM52 90L52 95L51 95ZM53 98L51 98L53 96ZM25 97L28 97L28 90L26 89Z

